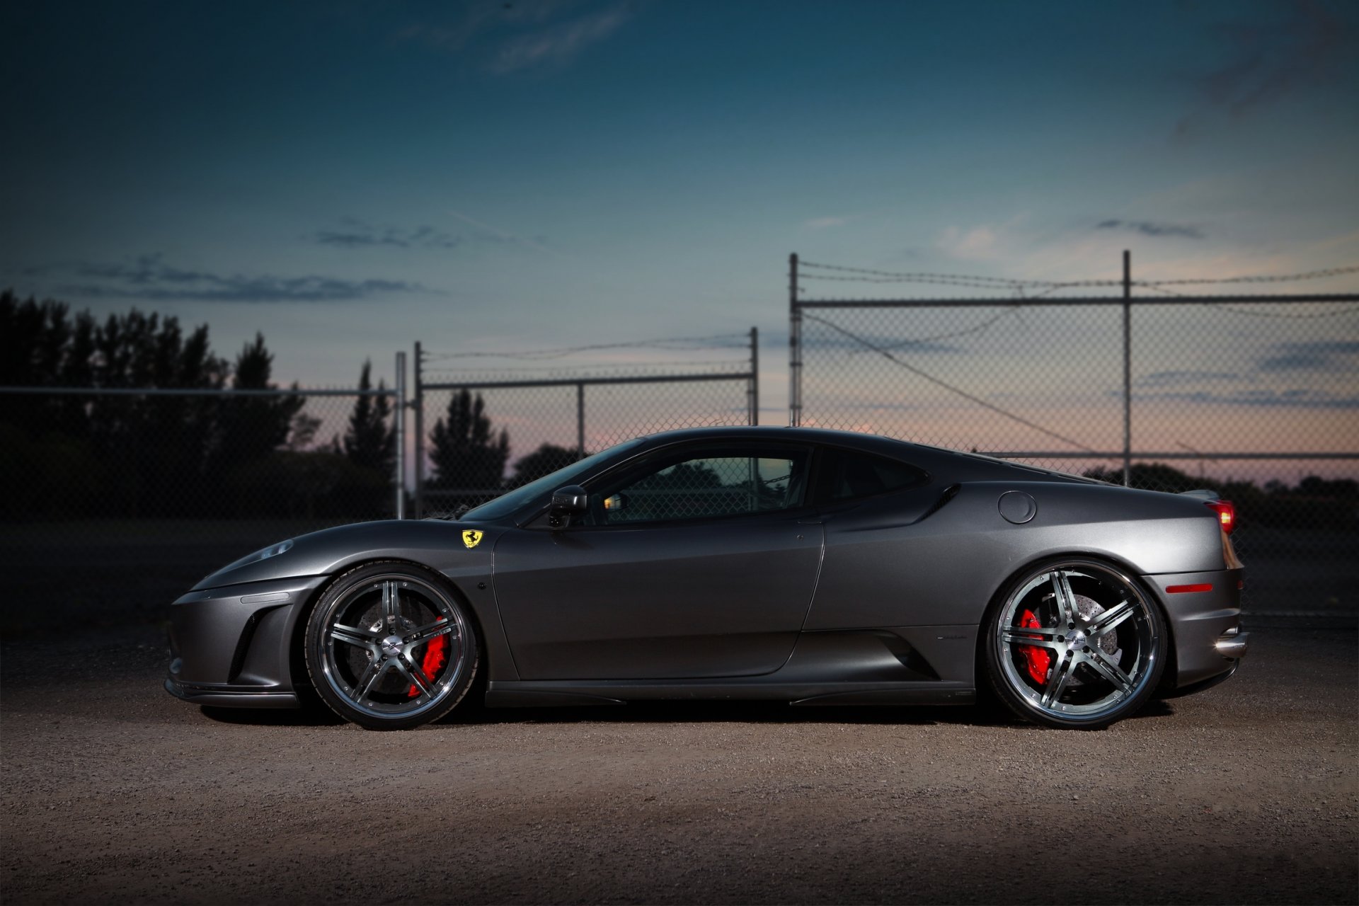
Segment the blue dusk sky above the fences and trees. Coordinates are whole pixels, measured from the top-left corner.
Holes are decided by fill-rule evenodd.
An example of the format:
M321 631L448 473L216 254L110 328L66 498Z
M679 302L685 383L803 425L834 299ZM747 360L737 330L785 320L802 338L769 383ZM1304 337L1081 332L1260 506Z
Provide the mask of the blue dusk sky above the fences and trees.
M754 325L779 422L792 251L1045 280L1118 277L1124 249L1146 278L1359 262L1348 1L53 1L0 34L0 285L208 323L226 355L260 330L303 384L366 357L390 382L416 340ZM1356 319L1328 330L1359 395Z

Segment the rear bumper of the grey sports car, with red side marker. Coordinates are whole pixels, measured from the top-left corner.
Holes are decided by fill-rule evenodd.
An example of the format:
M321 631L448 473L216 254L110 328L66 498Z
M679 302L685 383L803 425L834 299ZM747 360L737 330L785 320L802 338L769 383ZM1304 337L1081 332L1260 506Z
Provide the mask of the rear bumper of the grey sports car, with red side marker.
M1144 576L1170 621L1176 690L1235 671L1250 644L1241 632L1242 569Z

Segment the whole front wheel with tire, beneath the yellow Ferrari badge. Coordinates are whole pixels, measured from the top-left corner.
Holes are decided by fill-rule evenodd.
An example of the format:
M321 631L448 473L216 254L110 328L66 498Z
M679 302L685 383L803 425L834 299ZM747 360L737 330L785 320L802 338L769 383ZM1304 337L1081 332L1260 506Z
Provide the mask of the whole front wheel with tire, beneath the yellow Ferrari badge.
M368 729L439 720L480 663L470 610L428 569L402 562L337 577L307 618L307 675L322 701Z

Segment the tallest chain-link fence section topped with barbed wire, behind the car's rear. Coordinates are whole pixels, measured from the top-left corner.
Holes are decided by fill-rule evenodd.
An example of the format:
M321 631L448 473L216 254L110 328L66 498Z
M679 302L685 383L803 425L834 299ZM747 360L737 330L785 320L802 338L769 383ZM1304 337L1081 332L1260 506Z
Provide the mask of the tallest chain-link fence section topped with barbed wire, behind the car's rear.
M810 297L822 281L989 297ZM1171 297L1185 283L1197 281L894 274L794 257L790 418L1154 490L1215 489L1238 508L1248 607L1352 618L1359 295ZM1087 287L1128 297L1060 295Z

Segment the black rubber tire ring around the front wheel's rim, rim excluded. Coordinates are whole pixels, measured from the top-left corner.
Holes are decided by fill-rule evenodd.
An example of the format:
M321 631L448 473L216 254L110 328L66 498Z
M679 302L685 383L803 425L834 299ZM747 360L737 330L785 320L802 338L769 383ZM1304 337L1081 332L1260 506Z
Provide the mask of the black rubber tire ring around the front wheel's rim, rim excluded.
M330 619L330 614L336 603L352 591L355 585L371 581L376 576L402 575L432 585L448 600L454 610L458 611L465 628L463 670L458 675L453 689L450 689L444 694L443 700L435 706L417 714L376 717L356 709L344 695L330 687L330 679L326 676L325 671L326 623ZM311 609L311 613L307 615L307 630L303 636L303 656L307 667L307 678L311 681L313 689L315 689L317 694L326 704L326 706L330 708L330 710L347 721L367 729L409 729L412 727L420 727L444 717L448 712L458 706L458 704L467 694L467 690L472 687L473 679L476 678L480 667L480 655L481 641L477 637L476 621L472 618L472 609L448 585L448 583L434 570L400 561L367 564L337 576L334 581L332 581L321 594L315 606Z

